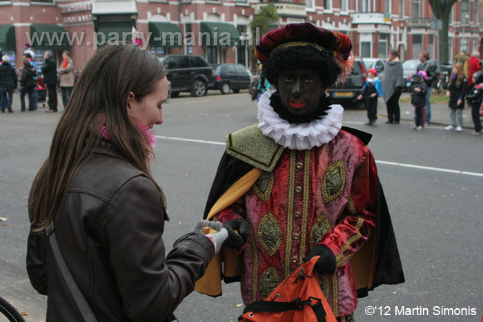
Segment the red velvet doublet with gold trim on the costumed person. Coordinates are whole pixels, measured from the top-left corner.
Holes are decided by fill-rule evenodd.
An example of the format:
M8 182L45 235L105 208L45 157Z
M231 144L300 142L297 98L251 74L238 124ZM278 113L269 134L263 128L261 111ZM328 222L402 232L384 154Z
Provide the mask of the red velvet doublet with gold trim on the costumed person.
M244 303L265 299L312 247L322 244L337 263L335 274L319 276L322 291L335 316L353 313L357 294L349 261L376 225L376 202L375 161L354 135L340 131L313 149L285 149L273 171L264 171L216 216L221 222L245 218L250 223L241 250Z

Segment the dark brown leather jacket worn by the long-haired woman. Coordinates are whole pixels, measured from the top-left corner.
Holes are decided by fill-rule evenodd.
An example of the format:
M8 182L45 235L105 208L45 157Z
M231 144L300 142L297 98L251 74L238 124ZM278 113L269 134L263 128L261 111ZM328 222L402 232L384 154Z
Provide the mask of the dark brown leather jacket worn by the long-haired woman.
M201 234L186 234L166 256L167 216L155 185L112 151L80 167L59 222L57 241L97 321L172 321L215 253ZM30 283L48 295L46 321L83 321L46 234L28 237Z

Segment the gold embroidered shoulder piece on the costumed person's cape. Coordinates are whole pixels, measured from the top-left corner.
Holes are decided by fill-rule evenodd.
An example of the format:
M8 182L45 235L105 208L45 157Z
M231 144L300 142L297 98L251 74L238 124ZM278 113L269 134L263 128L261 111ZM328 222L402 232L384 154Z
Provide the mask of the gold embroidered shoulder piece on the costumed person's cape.
M258 124L231 133L226 137L226 153L253 167L271 172L284 147L265 136Z

